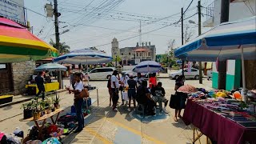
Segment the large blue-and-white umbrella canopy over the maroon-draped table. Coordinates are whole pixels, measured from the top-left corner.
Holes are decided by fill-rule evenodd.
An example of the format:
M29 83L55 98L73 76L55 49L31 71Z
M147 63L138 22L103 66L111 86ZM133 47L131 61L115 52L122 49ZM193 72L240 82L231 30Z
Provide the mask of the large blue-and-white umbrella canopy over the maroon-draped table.
M215 62L225 59L241 59L241 47L245 59L256 58L256 17L236 22L224 22L202 34L194 41L174 50L177 58L188 61Z

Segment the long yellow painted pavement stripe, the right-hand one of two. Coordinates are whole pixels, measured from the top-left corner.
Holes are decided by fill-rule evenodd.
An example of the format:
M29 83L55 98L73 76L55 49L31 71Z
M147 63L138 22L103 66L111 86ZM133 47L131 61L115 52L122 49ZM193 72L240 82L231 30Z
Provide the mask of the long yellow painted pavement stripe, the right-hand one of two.
M150 140L151 142L154 142L156 144L166 143L166 142L161 142L161 141L159 141L159 140L157 140L155 138L152 138L149 135L143 134L141 131L134 130L134 129L130 128L129 126L123 125L120 122L116 122L113 119L107 118L107 120L110 121L110 122L113 122L117 126L121 126L122 128L124 128L126 130L129 130L130 132L133 132L134 134L140 135L142 138L146 138L147 140Z

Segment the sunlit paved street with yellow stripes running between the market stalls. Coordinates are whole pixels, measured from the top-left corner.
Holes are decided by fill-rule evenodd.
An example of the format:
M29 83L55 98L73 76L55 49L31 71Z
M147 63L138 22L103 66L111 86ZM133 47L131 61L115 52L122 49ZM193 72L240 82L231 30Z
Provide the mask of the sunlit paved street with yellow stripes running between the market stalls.
M166 89L166 97L174 94L174 80L169 78L158 79ZM69 80L64 80L68 86ZM204 86L198 81L186 80L186 84L206 87L210 89L210 81L204 80ZM90 82L98 87L99 106L94 102L91 106L91 114L86 116L86 128L79 134L70 134L63 138L64 143L191 143L192 130L185 126L181 120L174 122L174 110L167 108L170 114L157 114L156 116L140 118L134 112L128 113L124 106L119 106L118 112L110 110L109 95L106 89L106 81ZM90 93L90 97L96 99L97 91ZM63 92L61 106L66 107L62 114L70 111L73 105L73 95ZM15 127L20 127L27 134L34 122L22 121L22 104L15 104L0 109L0 130L12 132ZM4 115L5 118L2 116Z

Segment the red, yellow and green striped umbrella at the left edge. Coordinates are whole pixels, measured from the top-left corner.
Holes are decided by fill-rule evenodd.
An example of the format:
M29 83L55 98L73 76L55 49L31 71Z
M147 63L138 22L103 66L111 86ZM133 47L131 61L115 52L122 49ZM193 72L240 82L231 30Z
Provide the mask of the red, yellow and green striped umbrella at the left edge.
M5 55L4 58L0 58L0 62L21 62L57 57L58 50L16 22L0 18L0 54Z

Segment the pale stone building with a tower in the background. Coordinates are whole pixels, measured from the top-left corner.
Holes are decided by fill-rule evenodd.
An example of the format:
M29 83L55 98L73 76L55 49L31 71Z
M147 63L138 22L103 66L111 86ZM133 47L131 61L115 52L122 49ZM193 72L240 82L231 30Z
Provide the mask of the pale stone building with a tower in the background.
M137 45L132 47L119 48L118 39L114 38L112 43L111 54L115 58L117 55L122 58L120 64L135 65L142 61L155 61L156 48L150 42L142 42L142 46Z

